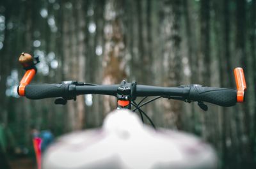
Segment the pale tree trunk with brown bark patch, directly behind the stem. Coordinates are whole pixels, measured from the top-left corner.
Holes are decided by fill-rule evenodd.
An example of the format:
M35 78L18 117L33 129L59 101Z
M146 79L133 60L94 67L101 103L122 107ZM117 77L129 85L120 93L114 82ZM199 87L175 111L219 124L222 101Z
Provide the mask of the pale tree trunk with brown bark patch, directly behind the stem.
M120 1L106 1L104 18L104 58L103 58L103 81L102 84L119 84L124 78L124 36L120 14L122 6ZM104 114L116 108L116 98L104 96Z

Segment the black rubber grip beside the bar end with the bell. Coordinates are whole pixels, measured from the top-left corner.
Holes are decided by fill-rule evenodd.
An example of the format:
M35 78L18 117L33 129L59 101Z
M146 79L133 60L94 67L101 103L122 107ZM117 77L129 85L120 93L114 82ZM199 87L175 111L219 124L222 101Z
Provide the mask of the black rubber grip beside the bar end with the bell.
M69 84L26 85L25 96L29 99L58 98L68 96Z

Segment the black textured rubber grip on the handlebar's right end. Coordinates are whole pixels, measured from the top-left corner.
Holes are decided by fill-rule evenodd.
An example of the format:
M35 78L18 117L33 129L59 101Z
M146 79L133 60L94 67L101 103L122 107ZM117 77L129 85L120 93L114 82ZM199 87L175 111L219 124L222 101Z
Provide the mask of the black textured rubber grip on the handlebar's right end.
M189 99L193 101L205 101L220 105L221 107L231 107L236 105L237 91L236 89L193 85L189 91Z

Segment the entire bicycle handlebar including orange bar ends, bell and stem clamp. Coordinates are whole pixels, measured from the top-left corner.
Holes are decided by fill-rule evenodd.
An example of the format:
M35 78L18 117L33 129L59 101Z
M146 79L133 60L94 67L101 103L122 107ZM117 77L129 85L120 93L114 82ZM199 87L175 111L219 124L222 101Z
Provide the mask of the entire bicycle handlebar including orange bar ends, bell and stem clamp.
M236 105L236 102L243 102L244 91L246 91L246 82L242 68L234 69L237 89L203 87L201 85L156 87L136 85L136 82L129 84L125 81L121 84L122 87L120 85L92 85L79 82L29 85L36 74L35 64L39 62L38 57L22 53L19 61L26 70L26 73L20 81L18 93L20 96L26 96L29 99L61 97L67 100L75 99L79 94L104 94L118 97L118 101L122 103L121 106L125 106L128 99L134 100L137 96L163 96L187 102L198 101L201 105L202 101L205 101L222 107L230 107ZM127 87L129 90L126 90Z

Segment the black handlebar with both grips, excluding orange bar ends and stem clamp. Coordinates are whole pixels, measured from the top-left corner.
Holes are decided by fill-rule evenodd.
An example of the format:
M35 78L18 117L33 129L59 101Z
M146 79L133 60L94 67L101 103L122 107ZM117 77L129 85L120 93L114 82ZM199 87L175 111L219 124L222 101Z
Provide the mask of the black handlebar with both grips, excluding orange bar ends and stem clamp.
M29 99L69 98L80 94L104 94L116 96L119 85L72 85L72 84L35 84L26 85L25 96ZM155 87L136 85L135 96L165 96L177 97L186 101L205 101L230 107L236 105L237 90L187 85L180 87Z

